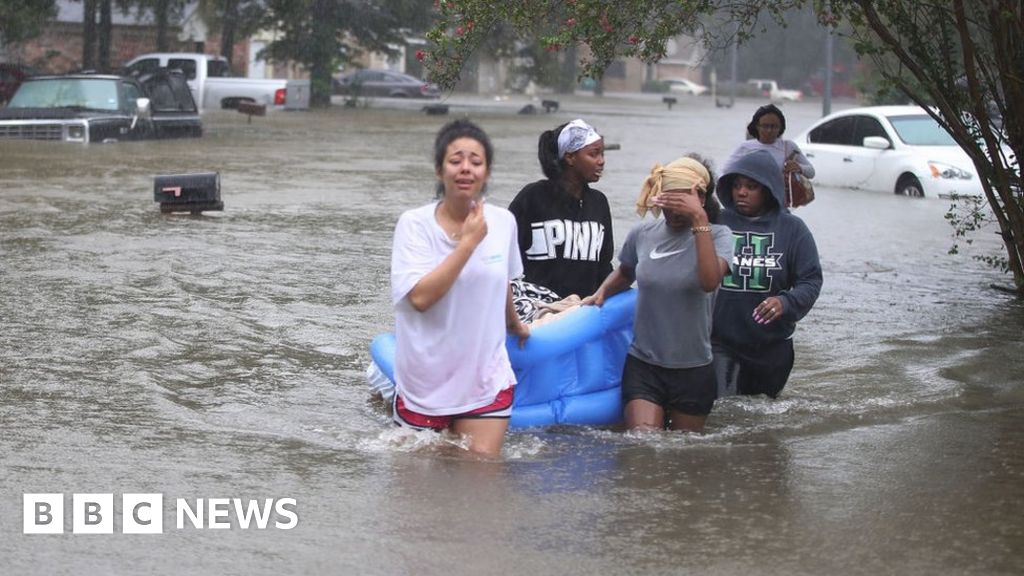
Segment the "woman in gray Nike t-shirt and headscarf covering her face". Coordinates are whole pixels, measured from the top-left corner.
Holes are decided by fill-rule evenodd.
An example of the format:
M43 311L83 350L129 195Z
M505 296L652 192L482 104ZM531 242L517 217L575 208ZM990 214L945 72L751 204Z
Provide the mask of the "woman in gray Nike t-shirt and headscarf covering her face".
M630 231L618 268L584 303L601 305L637 283L633 342L623 370L629 428L700 431L715 404L711 319L732 260L732 233L713 224L715 178L686 157L655 166L637 211L655 219ZM664 211L665 217L658 217Z

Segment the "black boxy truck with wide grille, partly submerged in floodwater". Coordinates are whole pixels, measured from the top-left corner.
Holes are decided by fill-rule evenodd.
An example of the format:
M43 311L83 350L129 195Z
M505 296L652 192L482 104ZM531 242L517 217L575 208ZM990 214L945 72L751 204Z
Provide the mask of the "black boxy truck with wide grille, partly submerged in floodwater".
M109 142L200 136L184 76L69 74L27 79L0 109L0 138Z

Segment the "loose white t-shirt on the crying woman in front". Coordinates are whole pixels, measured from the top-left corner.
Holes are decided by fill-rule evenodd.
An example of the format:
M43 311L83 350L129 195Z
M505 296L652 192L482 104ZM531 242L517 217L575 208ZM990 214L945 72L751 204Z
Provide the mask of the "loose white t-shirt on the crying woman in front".
M406 406L431 416L486 406L515 383L505 348L509 281L522 275L515 217L483 205L487 235L455 284L425 312L409 292L451 254L434 216L437 203L398 218L391 250L391 301L395 311L395 385Z

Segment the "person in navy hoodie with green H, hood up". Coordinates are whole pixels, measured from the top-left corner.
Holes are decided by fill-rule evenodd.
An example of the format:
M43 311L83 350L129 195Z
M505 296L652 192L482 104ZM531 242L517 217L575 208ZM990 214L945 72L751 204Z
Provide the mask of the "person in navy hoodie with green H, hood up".
M785 208L772 155L738 156L719 178L719 223L732 230L731 274L715 301L712 330L719 397L775 398L793 370L793 333L821 291L811 231Z

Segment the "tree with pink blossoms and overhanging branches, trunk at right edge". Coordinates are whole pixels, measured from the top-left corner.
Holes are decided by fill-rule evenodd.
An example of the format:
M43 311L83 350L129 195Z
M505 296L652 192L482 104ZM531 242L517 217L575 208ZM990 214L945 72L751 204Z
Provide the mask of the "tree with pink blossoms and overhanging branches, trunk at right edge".
M766 18L812 5L821 26L850 36L882 89L928 107L971 157L985 198L959 199L947 214L958 238L994 219L1006 256L983 258L1013 273L1024 297L1024 2L1020 0L436 0L423 54L450 87L463 63L500 23L546 49L583 46L581 75L600 78L618 57L655 63L679 34L743 41ZM987 209L985 204L987 204ZM954 245L953 250L956 249Z

